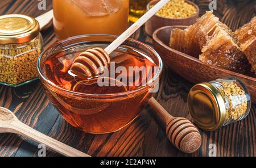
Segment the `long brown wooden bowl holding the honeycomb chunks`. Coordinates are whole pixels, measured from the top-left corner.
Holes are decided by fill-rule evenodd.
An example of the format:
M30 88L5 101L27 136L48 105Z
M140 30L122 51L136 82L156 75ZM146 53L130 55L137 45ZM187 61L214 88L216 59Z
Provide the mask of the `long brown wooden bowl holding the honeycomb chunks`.
M159 28L153 34L154 48L159 53L160 57L162 57L164 64L166 64L168 68L192 83L209 82L217 78L230 76L240 78L249 89L252 102L256 103L256 78L218 68L216 66L205 65L195 57L170 48L170 35L174 28L184 29L185 27L166 26Z

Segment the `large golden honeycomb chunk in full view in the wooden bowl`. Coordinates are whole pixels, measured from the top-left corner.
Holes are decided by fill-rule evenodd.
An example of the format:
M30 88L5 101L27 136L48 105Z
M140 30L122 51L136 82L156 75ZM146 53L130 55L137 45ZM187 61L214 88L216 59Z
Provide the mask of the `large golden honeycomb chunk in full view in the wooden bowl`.
M170 38L170 46L192 56L200 55L199 60L204 64L229 70L236 71L238 65L245 62L245 56L238 46L236 36L228 26L212 14L212 11L206 12L184 31L174 30Z

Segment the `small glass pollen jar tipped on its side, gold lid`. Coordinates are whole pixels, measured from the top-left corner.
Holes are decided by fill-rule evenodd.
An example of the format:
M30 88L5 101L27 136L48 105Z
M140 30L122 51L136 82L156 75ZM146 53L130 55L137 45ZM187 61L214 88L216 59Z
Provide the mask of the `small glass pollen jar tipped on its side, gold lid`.
M188 94L188 108L198 127L214 131L245 119L251 99L240 79L228 77L193 86Z

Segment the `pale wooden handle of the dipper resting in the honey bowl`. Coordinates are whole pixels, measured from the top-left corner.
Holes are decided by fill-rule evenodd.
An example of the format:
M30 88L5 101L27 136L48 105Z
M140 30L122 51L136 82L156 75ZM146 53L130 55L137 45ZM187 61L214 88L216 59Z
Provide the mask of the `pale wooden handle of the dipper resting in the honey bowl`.
M135 31L138 30L144 23L147 22L157 11L159 11L167 2L170 0L161 0L154 7L152 7L149 11L146 12L137 22L135 22L132 26L130 26L125 32L122 33L117 39L115 39L105 51L110 54L112 53L119 45L123 43L126 39L128 39Z

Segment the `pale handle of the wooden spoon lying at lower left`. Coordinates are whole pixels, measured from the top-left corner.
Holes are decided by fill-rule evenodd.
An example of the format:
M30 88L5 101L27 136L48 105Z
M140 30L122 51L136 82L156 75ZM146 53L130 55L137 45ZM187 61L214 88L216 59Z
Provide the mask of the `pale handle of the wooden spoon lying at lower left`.
M81 151L72 148L66 144L63 144L60 141L57 141L49 136L44 135L36 131L35 129L28 127L26 124L22 123L19 120L15 120L10 124L11 131L13 133L22 135L24 137L30 138L40 144L44 144L55 150L56 152L63 154L64 156L69 157L89 157L88 154L82 153Z

